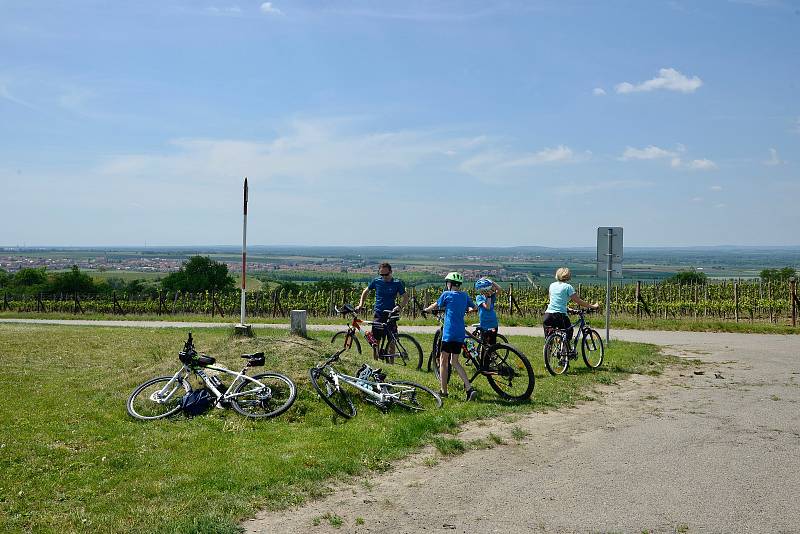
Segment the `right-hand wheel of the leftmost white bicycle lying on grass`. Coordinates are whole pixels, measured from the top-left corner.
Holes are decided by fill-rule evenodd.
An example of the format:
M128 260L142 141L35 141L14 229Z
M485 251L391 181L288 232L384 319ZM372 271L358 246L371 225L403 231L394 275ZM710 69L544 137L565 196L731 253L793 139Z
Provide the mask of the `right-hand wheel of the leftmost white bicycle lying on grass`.
M261 373L253 376L263 386L245 380L236 386L231 406L247 417L275 417L289 409L297 397L297 388L287 376Z

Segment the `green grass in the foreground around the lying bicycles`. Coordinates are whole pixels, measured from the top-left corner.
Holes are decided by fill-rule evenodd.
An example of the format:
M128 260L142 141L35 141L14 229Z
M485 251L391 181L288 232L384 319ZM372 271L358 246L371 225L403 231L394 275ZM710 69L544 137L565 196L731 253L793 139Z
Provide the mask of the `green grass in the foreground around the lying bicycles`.
M318 498L337 479L385 470L437 440L458 441L441 434L464 422L571 405L598 382L659 372L668 362L653 346L618 342L603 370L576 365L552 378L541 363L541 339L515 338L534 363L532 403L503 402L478 379L478 402L461 401L463 390L453 385L453 398L435 413L382 414L359 403L358 415L344 421L332 417L307 378L330 349L329 334L305 340L265 330L236 339L211 329L195 333L198 350L231 368L240 365L239 354L264 350L268 369L295 380L298 399L289 412L267 421L228 410L193 419L131 419L128 395L144 380L177 370L185 335L0 325L0 532L237 532L261 508ZM417 337L428 350L431 336ZM365 359L348 356L341 367L352 371ZM436 387L430 373L386 368L392 378Z

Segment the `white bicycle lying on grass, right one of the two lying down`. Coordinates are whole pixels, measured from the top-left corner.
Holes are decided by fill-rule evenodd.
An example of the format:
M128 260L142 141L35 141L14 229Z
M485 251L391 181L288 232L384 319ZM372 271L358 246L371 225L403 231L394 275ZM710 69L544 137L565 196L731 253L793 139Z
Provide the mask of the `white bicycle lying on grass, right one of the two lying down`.
M309 370L311 384L322 400L342 417L356 415L356 406L349 393L348 385L363 393L364 400L388 411L392 406L400 406L411 411L428 411L442 407L442 399L433 390L414 382L387 381L386 374L363 364L356 376L339 372L333 364L347 350L340 349L330 358Z

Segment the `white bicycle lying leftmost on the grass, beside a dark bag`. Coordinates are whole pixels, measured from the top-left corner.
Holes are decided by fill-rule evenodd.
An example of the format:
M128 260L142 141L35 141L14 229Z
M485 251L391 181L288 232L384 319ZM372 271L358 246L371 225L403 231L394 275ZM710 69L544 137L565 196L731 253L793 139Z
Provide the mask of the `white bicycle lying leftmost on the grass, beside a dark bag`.
M178 353L183 366L172 376L152 378L133 390L126 408L131 417L150 421L176 414L181 410L181 399L192 392L189 377L195 375L211 393L213 405L228 406L247 417L275 417L292 405L297 396L294 382L282 374L267 372L247 375L247 369L264 365L264 353L243 354L247 360L241 372L215 366L216 360L194 349L192 334ZM233 377L229 386L218 375L208 375L207 370Z

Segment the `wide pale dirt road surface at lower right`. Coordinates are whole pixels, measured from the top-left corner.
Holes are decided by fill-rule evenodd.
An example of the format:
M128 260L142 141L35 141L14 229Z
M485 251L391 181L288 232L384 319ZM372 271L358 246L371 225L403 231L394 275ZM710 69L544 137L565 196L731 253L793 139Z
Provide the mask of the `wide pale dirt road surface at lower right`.
M388 473L243 526L252 533L800 532L800 337L617 336L705 363L635 376L577 408L472 425L461 439L491 432L504 443L447 458L426 449Z

